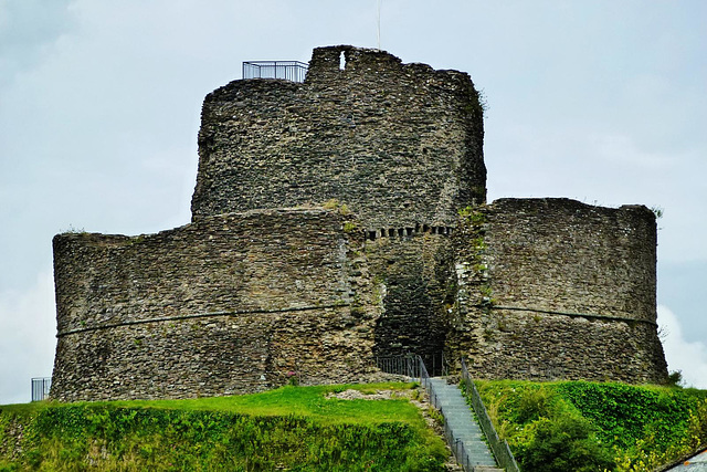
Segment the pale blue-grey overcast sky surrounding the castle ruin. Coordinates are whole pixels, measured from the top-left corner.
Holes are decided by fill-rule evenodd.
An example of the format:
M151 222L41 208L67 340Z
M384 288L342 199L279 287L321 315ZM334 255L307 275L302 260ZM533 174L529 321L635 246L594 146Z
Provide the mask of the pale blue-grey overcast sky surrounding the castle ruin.
M0 405L51 376L51 241L184 224L203 97L247 60L377 48L378 0L0 0ZM380 46L468 72L488 199L661 208L671 370L707 388L707 2L382 0ZM611 296L611 294L606 294Z

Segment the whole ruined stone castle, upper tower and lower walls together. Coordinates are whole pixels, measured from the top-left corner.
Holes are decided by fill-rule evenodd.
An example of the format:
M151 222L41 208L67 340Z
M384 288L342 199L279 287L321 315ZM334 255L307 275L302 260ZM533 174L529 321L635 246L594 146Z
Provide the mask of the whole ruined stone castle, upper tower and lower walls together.
M367 381L409 353L483 378L664 381L653 213L486 204L483 135L467 74L377 50L212 92L191 223L54 238L52 397Z

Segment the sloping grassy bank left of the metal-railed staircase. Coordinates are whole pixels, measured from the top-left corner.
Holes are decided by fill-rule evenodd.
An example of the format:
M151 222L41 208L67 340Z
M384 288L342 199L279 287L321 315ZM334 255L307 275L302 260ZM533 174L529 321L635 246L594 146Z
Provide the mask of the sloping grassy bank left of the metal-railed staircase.
M443 470L444 444L407 397L326 398L347 388L392 388L402 397L413 387L0 407L0 471Z

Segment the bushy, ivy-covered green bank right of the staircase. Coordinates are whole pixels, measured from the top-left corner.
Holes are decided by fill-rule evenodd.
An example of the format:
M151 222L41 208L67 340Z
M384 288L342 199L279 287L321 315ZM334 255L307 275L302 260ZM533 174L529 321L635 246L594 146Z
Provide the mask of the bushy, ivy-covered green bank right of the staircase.
M707 443L707 391L625 384L476 382L525 471L653 471Z

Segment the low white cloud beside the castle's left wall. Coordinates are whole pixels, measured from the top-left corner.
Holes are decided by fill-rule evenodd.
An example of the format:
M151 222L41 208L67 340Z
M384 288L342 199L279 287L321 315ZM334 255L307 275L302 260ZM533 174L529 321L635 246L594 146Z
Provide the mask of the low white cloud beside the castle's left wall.
M55 328L50 271L27 292L0 292L0 405L30 401L30 379L52 375Z

